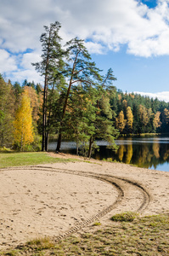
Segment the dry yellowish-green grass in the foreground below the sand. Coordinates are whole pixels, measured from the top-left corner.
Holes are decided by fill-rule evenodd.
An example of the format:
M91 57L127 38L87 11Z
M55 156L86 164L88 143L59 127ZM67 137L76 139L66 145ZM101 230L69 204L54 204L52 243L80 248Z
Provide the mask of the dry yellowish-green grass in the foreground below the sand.
M93 227L91 233L70 236L57 243L49 238L37 239L0 255L168 256L169 214L138 217L132 222L112 221L100 229Z

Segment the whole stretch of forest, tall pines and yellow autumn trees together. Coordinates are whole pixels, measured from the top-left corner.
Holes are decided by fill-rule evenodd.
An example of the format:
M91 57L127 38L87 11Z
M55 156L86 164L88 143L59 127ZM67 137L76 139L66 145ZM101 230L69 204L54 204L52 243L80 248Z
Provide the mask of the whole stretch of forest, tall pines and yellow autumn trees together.
M42 61L32 63L44 79L11 83L0 74L0 148L48 151L51 137L59 152L63 139L76 142L76 154L91 156L96 139L116 149L120 135L166 133L169 103L122 92L110 68L96 67L84 41L63 47L58 21L44 26Z

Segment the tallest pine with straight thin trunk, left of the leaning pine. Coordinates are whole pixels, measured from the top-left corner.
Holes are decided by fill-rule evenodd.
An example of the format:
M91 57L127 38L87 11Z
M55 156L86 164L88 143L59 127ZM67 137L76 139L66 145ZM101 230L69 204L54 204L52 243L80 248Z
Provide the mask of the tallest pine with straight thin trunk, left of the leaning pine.
M36 70L44 77L43 87L43 108L42 108L42 151L48 150L48 123L50 123L51 102L48 102L49 88L54 89L56 81L60 80L64 67L62 60L64 51L61 49L61 38L59 37L60 24L58 21L44 26L45 32L42 33L40 41L42 43L42 61L32 63Z

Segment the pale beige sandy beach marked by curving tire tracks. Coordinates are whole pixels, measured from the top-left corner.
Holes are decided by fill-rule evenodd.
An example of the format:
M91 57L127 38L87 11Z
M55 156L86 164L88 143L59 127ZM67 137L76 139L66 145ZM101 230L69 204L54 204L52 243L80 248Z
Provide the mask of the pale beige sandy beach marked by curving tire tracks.
M109 224L119 212L169 212L169 172L121 163L79 158L11 167L0 170L0 181L0 250L92 230L94 222Z

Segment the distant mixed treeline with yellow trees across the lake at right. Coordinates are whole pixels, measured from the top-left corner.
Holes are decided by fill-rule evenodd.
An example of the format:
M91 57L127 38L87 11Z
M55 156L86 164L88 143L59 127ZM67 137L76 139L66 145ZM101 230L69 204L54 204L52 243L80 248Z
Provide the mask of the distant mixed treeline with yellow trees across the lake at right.
M110 104L115 111L115 127L121 134L169 131L169 102L115 90Z

